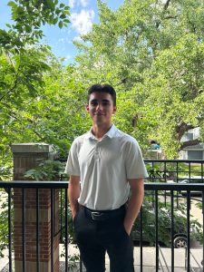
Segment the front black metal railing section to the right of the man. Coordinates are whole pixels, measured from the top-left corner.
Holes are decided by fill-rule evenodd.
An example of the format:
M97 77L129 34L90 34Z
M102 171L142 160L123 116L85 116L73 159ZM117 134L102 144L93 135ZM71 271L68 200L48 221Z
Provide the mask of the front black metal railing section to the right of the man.
M198 271L198 270L193 270L193 267L191 265L190 260L192 260L194 257L192 257L192 253L190 251L190 238L191 238L191 233L190 233L190 208L191 208L191 197L190 197L190 191L198 191L201 193L201 198L198 199L200 200L201 203L201 214L202 214L202 224L199 226L200 234L202 236L202 240L200 240L201 244L201 249L202 250L202 259L204 259L204 254L203 254L203 222L204 222L204 198L203 198L203 193L204 193L204 184L180 184L180 183L146 183L145 184L145 191L150 191L151 192L151 197L154 199L153 201L153 206L154 206L154 212L155 212L155 239L154 239L154 244L155 244L155 251L156 251L156 257L155 257L155 267L156 271L159 271L160 266L160 257L162 256L162 252L160 249L160 237L159 237L159 228L160 228L160 205L159 202L162 197L166 197L165 192L169 192L169 205L170 205L170 265L167 266L167 263L164 260L164 264L166 264L166 269L167 271L176 271L174 270L174 263L175 263L175 244L174 244L174 238L175 238L175 210L178 210L178 205L176 202L175 205L175 199L178 201L178 198L181 201L182 204L182 212L183 212L183 201L185 199L185 214L180 215L182 216L183 219L186 219L186 238L187 238L187 243L185 247L183 248L183 254L185 254L185 263L183 264L183 267L186 268L187 271ZM152 195L153 191L153 195ZM186 196L183 197L180 195L178 197L178 192L180 191L186 191ZM165 202L164 202L165 203ZM141 209L142 210L142 209ZM141 216L141 229L142 229L142 216ZM198 231L198 229L197 229ZM142 263L143 263L143 254L142 254L142 239L141 239L141 271L142 271ZM198 263L198 261L197 261ZM199 266L200 271L203 271L203 264L200 262ZM161 267L162 268L162 267ZM163 270L162 271L166 271Z

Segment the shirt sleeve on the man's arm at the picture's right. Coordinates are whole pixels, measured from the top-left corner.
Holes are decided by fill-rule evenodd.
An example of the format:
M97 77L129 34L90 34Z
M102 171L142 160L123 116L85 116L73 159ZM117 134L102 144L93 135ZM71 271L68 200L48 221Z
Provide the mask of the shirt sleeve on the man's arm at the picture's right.
M126 145L125 168L128 180L148 178L140 146L134 139L128 141Z

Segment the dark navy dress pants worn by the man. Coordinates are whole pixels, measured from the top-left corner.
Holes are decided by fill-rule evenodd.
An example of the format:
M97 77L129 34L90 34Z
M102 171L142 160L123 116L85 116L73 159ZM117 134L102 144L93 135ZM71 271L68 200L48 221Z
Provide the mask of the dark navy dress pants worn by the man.
M87 272L105 271L105 253L110 258L111 272L133 272L133 243L123 227L125 209L116 217L92 219L80 206L73 219L76 243Z

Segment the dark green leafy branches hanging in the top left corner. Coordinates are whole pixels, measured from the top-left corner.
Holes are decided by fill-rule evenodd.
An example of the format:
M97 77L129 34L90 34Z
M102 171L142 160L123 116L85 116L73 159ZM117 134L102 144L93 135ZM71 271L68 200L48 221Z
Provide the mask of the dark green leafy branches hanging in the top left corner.
M25 44L35 44L44 34L42 24L57 24L60 28L67 26L69 6L58 0L45 1L9 1L14 24L6 24L8 31L0 30L0 45L5 51L20 53Z

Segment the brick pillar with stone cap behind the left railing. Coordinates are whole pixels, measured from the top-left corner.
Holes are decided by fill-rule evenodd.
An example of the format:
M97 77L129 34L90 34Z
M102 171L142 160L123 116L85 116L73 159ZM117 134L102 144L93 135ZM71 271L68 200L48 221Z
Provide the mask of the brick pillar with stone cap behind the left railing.
M14 180L24 178L26 170L33 169L39 159L53 160L53 150L48 144L23 143L12 145L14 153ZM41 272L59 271L59 190L53 190L53 271L51 271L51 189L39 189L39 267ZM23 250L23 200L22 189L14 190L14 248L15 272L36 271L36 189L24 189L24 250Z

